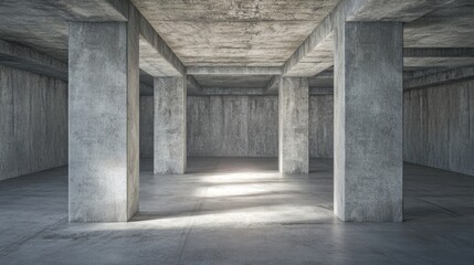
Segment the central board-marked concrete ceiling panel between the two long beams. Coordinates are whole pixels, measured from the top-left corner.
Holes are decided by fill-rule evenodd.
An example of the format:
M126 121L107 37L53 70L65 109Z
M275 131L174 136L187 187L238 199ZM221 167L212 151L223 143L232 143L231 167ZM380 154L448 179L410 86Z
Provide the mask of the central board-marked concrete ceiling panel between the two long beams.
M186 66L281 66L338 0L133 0Z

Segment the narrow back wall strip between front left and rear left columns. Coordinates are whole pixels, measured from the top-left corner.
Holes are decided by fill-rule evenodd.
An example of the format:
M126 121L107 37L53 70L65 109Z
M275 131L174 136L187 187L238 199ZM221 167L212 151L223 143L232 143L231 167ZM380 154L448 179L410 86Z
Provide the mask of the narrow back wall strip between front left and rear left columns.
M154 157L154 97L140 96L140 158Z

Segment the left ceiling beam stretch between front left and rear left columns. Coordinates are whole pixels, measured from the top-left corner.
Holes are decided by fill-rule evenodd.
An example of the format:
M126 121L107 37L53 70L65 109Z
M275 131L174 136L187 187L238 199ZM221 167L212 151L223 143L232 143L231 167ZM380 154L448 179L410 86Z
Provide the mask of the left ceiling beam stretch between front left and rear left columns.
M135 7L133 7L135 9ZM138 14L140 28L140 63L143 71L155 77L183 76L185 65L151 24Z

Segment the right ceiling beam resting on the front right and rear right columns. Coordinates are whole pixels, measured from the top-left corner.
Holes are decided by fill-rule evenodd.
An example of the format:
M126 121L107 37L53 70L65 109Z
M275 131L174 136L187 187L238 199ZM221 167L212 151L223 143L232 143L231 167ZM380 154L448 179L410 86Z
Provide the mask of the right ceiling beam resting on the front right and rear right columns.
M334 25L337 20L408 22L453 1L340 1L286 61L283 76L310 77L334 65Z

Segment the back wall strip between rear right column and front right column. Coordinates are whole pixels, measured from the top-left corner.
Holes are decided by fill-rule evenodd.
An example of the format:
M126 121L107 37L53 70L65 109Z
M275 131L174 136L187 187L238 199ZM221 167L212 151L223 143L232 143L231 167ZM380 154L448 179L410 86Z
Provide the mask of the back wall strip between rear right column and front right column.
M334 96L309 96L309 157L334 157Z

